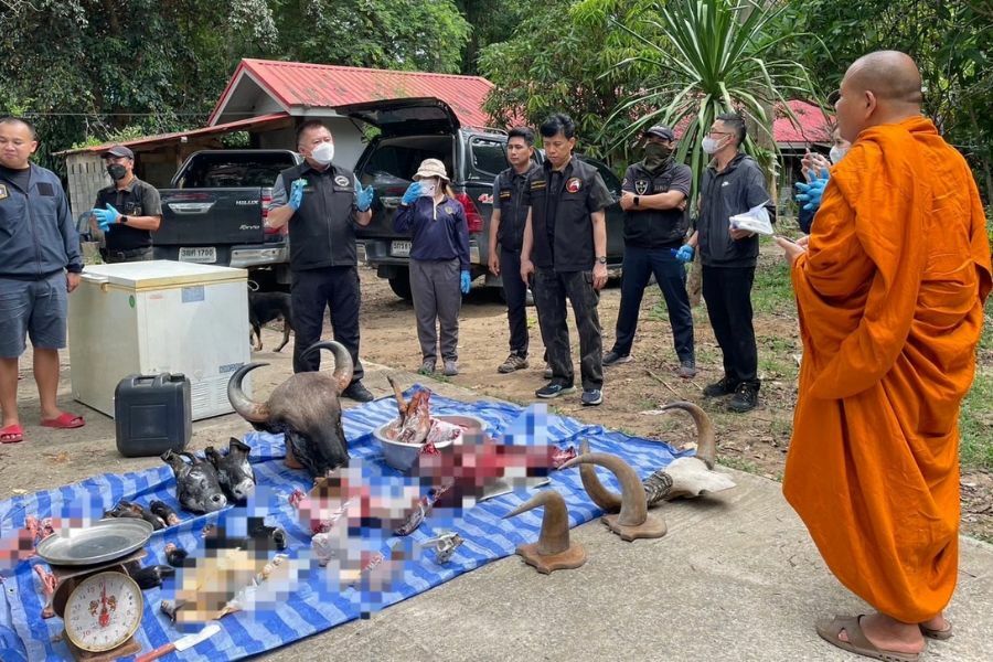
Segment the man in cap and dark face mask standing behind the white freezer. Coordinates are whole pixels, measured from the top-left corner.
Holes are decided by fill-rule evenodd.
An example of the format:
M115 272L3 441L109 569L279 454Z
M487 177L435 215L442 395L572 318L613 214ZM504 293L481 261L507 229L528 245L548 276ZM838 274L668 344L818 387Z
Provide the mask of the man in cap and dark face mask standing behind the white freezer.
M162 223L159 192L135 177L135 152L127 147L115 145L102 157L114 183L97 193L90 210L90 226L94 234L104 233L104 259L108 263L151 259L151 233Z

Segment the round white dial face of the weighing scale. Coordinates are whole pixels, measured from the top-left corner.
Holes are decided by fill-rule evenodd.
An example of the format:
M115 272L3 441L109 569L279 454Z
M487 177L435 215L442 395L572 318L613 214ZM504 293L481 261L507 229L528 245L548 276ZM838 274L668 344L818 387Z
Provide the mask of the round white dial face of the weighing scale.
M98 653L126 642L141 624L145 599L124 573L90 575L65 604L65 633L76 648Z

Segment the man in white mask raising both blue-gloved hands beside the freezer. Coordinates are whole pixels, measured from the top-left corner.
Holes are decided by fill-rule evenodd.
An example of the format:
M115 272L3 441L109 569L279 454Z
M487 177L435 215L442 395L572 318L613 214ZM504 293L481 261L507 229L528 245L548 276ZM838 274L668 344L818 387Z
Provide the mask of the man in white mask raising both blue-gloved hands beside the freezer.
M293 274L293 372L320 369L317 352L302 353L321 339L324 310L331 308L334 340L352 355L352 383L344 397L367 403L373 394L362 384L359 361L359 260L355 224L369 225L373 202L351 170L332 166L334 140L317 120L297 129L297 149L305 161L279 173L266 224L289 223L290 269Z

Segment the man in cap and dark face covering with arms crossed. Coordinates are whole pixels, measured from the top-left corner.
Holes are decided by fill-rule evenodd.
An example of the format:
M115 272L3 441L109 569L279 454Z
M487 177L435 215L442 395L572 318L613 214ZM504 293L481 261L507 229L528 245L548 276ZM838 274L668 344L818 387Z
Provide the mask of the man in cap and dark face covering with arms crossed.
M604 355L604 365L631 361L641 299L649 277L654 274L669 310L680 360L679 374L690 378L696 374L693 313L686 293L686 267L675 254L690 228L684 210L693 174L688 167L673 161L675 135L672 129L659 125L644 136L644 159L628 168L621 185L620 204L627 212L623 282L613 349Z

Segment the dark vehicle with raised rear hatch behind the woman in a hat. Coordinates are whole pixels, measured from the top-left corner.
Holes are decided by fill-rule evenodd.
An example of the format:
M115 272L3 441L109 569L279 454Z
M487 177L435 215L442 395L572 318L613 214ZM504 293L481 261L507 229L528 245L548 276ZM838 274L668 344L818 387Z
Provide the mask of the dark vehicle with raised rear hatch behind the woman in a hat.
M493 180L508 167L506 134L461 127L452 109L435 98L355 104L338 111L378 131L355 166L362 184L372 184L377 197L372 223L357 228L356 235L364 246L366 263L375 267L381 278L389 280L394 293L410 298L410 235L394 232L393 216L410 177L427 158L445 163L456 196L466 207L472 278L484 276L487 287L500 287L500 278L489 273L487 258ZM535 158L541 162L543 154L536 151ZM615 203L607 207L607 264L608 268L616 269L621 265L624 249L623 212L617 204L621 184L606 164L580 158L599 170L615 196Z

